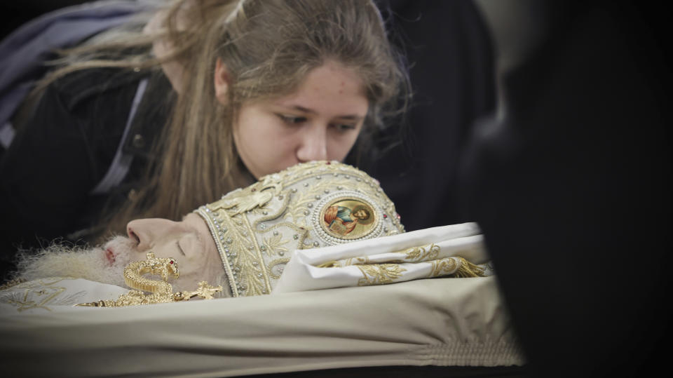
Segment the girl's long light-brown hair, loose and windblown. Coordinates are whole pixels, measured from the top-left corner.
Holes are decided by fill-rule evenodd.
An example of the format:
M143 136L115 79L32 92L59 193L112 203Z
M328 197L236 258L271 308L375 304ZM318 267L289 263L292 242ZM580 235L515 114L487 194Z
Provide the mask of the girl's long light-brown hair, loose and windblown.
M178 219L248 184L233 142L236 110L249 100L292 93L325 60L353 69L365 83L369 112L363 134L407 105L401 55L371 0L181 0L162 11L165 32L147 36L132 25L123 38L101 37L69 50L68 64L45 81L90 67L156 69L169 61L182 66L184 86L154 147L146 184L109 213L109 231L147 215ZM168 57L149 53L158 39L170 43ZM215 97L217 58L231 79L227 107Z

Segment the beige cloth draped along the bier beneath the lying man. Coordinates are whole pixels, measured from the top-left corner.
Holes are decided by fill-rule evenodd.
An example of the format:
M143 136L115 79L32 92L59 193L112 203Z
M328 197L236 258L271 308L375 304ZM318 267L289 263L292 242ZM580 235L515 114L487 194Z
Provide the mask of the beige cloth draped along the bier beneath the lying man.
M0 313L7 376L230 377L522 365L494 277L126 308Z

